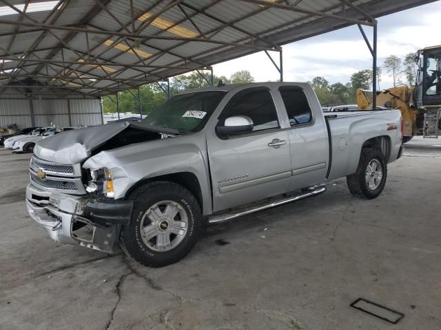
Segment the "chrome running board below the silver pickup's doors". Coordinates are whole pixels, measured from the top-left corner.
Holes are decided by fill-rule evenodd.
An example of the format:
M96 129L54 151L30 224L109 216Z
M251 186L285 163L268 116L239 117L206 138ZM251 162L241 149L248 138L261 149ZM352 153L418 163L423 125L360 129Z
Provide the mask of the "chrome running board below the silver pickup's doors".
M278 201L262 203L259 204L258 206L252 206L251 208L248 208L246 210L240 210L235 213L224 213L219 215L213 215L212 217L208 218L208 223L220 223L220 222L228 221L237 217L242 217L245 214L266 210L267 208L274 208L275 206L291 203L292 201L298 201L299 199L316 196L321 194L322 192L325 192L325 190L326 190L325 186L318 186L316 188L313 188L313 190L310 190L309 192L304 192L300 195L291 196L285 199L279 199Z

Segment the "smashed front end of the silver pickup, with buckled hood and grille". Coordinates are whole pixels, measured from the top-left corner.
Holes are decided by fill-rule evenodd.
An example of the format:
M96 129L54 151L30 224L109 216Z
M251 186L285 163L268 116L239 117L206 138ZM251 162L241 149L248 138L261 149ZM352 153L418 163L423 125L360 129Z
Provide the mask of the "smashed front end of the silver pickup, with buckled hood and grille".
M133 208L133 201L125 199L133 178L112 151L168 136L157 129L117 123L42 140L30 161L26 189L30 216L54 241L112 252Z

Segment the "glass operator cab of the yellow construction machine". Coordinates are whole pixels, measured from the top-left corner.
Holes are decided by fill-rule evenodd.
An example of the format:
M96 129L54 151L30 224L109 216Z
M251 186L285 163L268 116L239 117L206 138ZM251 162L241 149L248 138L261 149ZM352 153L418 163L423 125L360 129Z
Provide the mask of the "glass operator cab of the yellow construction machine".
M416 53L418 72L413 100L418 107L441 107L441 45Z

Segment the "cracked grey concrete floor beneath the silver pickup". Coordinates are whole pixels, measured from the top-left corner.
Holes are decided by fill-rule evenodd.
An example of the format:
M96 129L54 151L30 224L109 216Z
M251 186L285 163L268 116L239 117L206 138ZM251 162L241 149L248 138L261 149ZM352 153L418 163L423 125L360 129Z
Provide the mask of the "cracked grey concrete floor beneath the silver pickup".
M0 149L0 329L441 329L441 141L431 142L409 142L377 199L351 197L340 179L209 228L161 269L51 241L23 203L29 155ZM358 297L405 317L391 325L349 307Z

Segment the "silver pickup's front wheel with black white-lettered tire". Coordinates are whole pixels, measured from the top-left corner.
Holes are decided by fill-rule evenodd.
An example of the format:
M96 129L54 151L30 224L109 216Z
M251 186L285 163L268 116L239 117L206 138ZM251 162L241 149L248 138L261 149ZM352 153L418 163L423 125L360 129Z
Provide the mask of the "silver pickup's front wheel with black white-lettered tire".
M119 236L128 256L145 266L163 267L183 259L192 250L203 218L201 207L189 190L172 182L155 181L136 189L130 198L135 200L132 218ZM172 216L167 216L167 212Z

